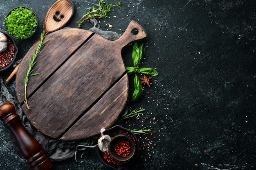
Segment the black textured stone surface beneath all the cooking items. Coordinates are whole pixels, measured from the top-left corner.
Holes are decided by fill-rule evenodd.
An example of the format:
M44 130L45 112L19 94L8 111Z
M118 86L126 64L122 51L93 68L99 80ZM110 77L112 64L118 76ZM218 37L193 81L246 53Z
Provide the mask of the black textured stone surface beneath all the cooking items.
M15 7L25 6L38 16L33 37L16 40L21 59L40 35L44 17L54 0L0 1L0 29ZM98 0L72 0L76 22ZM108 2L112 2L109 1ZM159 75L144 86L144 96L132 109L146 108L144 116L122 124L149 126L153 135L137 135L139 157L128 170L256 168L256 2L254 0L123 0L100 19L103 30L122 34L130 20L141 24L148 38L143 67ZM112 25L111 29L109 24ZM85 23L83 29L92 25ZM132 66L132 46L123 50ZM1 72L4 80L13 68ZM141 77L141 75L139 75ZM132 91L132 76L130 81ZM99 82L100 83L100 82ZM15 94L15 82L8 86ZM147 94L146 92L149 92ZM29 166L9 141L0 122L0 169L27 170ZM96 153L55 162L54 170L110 169Z

